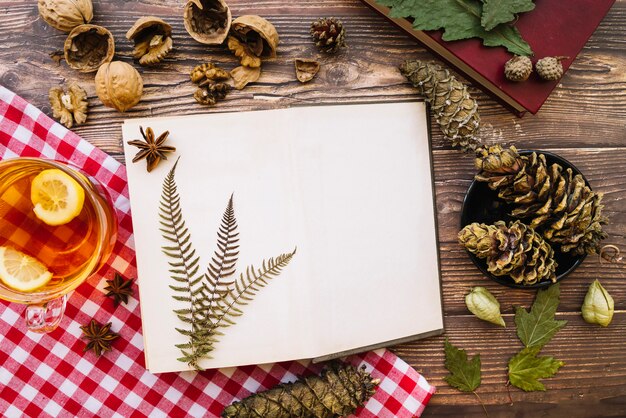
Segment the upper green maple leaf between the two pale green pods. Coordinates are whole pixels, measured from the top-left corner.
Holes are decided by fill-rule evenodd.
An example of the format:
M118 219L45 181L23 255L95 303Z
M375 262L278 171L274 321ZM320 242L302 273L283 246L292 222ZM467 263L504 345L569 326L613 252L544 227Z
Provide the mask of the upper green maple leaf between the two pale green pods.
M528 347L541 349L552 339L567 321L554 319L556 308L559 306L559 284L553 284L545 290L537 292L537 297L530 312L524 308L515 311L515 325L517 336Z

